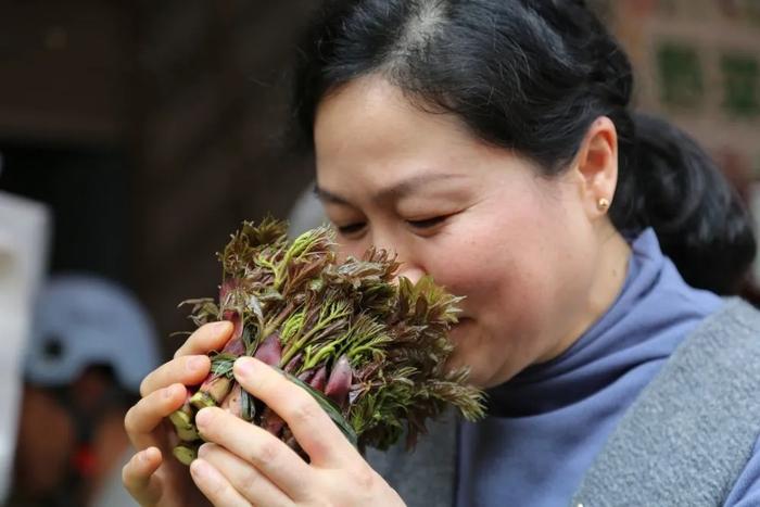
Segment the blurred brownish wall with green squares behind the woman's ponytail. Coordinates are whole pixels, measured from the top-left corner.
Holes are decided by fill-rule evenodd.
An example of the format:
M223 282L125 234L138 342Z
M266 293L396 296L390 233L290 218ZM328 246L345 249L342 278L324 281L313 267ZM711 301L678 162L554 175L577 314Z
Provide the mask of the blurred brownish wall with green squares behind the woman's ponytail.
M760 177L760 1L608 3L637 105L689 131L738 186Z

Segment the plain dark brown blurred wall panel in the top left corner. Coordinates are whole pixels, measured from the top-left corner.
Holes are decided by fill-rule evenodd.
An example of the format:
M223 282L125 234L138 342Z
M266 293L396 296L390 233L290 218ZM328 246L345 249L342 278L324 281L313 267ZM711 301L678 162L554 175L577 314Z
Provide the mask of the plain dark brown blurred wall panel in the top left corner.
M119 142L134 111L132 25L129 2L0 1L0 139Z

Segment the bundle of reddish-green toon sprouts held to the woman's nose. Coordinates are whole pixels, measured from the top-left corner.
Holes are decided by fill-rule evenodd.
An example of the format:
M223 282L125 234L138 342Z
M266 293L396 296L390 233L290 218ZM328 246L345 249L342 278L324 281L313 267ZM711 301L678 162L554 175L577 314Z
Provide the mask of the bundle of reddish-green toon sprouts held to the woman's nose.
M428 418L447 405L476 420L482 393L449 370L448 331L459 301L426 277L394 281L400 267L384 251L339 262L329 228L289 242L287 225L243 223L219 255L218 301L191 304L197 326L230 320L232 337L210 354L212 371L169 419L182 441L175 456L189 464L202 443L195 413L219 406L265 428L300 452L284 421L233 379L246 355L280 368L307 390L359 448L388 448L406 429L413 446Z

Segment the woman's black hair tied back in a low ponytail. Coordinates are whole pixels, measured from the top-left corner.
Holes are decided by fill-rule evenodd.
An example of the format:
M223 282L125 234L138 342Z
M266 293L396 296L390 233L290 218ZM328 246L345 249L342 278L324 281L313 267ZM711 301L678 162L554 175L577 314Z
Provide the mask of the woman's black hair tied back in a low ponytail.
M632 113L631 63L583 0L328 0L301 47L294 119L313 150L326 94L378 74L416 105L560 174L592 123L618 132L610 219L653 227L692 286L731 293L756 252L749 216L710 157L668 123Z

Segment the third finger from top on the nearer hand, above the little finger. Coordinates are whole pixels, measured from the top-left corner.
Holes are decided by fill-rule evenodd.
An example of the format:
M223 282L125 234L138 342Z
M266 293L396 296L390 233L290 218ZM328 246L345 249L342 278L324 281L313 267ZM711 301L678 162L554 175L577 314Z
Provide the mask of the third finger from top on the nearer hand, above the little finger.
M293 502L251 464L216 444L203 444L198 457L211 464L253 505L284 507Z

